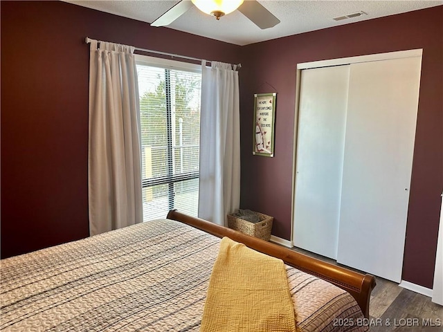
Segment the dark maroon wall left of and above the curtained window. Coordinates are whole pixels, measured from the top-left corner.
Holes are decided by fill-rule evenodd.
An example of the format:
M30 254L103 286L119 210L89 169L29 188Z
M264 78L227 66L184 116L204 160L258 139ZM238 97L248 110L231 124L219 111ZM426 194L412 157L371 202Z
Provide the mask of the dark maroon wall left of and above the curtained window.
M239 46L61 1L1 1L1 257L89 235L84 37L239 62Z

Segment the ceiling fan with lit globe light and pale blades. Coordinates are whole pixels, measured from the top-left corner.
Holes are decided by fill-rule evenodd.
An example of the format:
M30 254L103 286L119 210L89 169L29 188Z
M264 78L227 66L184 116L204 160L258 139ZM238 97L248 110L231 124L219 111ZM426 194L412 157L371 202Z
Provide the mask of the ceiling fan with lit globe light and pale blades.
M280 19L275 17L256 0L181 0L152 22L151 26L168 26L193 5L202 12L213 15L217 20L238 9L239 12L261 29L272 28L280 23Z

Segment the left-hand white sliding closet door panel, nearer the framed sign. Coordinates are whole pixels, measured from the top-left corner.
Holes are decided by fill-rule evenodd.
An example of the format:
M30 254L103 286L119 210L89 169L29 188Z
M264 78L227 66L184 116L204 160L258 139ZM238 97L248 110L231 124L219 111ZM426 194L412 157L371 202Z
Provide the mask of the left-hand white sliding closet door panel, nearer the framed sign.
M349 66L302 71L294 246L336 259Z

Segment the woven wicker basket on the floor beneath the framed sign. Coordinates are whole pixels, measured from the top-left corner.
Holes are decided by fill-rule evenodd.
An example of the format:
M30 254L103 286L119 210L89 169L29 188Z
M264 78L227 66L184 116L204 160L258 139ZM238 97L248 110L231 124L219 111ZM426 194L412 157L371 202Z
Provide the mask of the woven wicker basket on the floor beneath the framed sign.
M251 223L251 221L247 221L237 216L233 216L232 214L228 214L229 228L232 228L233 230L239 230L244 234L269 241L269 239L271 239L273 216L266 216L266 214L262 214L259 212L254 213L260 217L261 221L259 221L258 223Z

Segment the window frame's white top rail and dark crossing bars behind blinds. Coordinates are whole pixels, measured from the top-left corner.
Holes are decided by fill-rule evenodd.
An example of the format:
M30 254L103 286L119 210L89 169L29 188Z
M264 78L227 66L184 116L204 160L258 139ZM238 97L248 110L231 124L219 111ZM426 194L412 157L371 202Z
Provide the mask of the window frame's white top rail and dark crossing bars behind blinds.
M147 55L135 55L136 64L143 66L151 66L157 68L165 68L169 70L188 71L191 73L201 73L201 65L191 64L189 62L179 62L171 59L163 59L160 57L150 57ZM166 117L167 117L167 136L168 136L168 165L172 165L173 158L173 140L172 140L172 107L171 98L168 97L168 90L170 90L170 82L168 82L168 75L166 79ZM138 110L140 114L140 110ZM141 137L140 137L141 140ZM155 185L168 185L168 208L174 209L174 184L186 180L199 178L199 170L195 172L184 172L181 174L173 174L172 167L168 167L168 174L165 176L156 176L154 178L142 178L142 189L153 187Z

